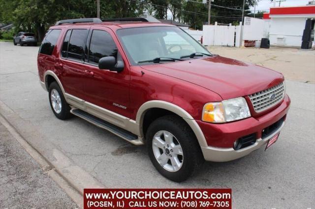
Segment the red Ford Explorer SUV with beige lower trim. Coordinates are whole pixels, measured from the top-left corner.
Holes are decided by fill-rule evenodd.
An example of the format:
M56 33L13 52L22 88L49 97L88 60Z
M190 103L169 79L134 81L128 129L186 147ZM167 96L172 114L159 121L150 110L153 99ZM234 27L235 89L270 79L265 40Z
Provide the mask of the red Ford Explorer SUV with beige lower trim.
M290 104L282 74L212 54L179 27L130 20L50 27L37 64L57 118L74 114L146 144L158 172L176 182L204 160L278 139Z

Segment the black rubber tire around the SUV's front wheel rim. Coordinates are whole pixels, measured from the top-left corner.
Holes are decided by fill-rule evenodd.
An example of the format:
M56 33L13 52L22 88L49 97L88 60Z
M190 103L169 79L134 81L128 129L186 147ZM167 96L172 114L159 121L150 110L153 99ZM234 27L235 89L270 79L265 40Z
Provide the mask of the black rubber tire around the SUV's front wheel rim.
M183 150L183 164L176 172L171 172L164 169L156 159L152 141L154 135L158 131L168 131L172 133L177 141L180 143ZM158 118L149 126L146 133L146 144L149 157L156 167L158 172L165 178L174 182L183 182L192 176L199 167L203 164L204 158L199 146L199 143L190 129L188 124L180 117L174 115L167 115Z

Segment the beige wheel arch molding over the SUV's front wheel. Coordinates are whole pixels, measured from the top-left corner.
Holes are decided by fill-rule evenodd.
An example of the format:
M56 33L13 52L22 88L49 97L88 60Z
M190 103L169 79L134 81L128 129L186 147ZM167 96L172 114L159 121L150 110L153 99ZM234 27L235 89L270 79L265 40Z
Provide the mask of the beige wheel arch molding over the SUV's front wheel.
M165 101L160 101L160 100L152 100L149 102L146 102L140 106L137 112L136 116L136 124L139 127L139 132L141 133L141 136L144 136L143 131L142 131L142 124L144 120L145 113L147 110L150 108L161 108L161 109L166 109L171 112L174 112L175 114L179 115L182 117L186 123L189 125L191 130L194 132L196 135L196 138L199 142L200 147L207 147L207 142L205 139L205 136L203 135L203 132L201 131L200 127L198 126L197 122L193 119L193 117L182 107L177 106L172 103L168 103Z

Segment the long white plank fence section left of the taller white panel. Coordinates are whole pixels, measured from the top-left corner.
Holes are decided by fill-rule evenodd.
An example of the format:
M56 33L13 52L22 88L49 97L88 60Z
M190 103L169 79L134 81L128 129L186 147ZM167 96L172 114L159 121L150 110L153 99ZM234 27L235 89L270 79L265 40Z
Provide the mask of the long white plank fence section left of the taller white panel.
M203 45L238 46L241 38L241 26L203 26Z

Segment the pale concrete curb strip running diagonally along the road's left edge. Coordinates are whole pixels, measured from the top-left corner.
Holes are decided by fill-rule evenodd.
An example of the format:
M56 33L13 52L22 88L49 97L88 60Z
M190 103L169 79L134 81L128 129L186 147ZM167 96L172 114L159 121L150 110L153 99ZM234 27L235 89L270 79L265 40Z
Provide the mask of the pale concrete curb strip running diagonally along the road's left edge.
M0 101L0 123L13 135L21 146L77 204L83 208L84 188L105 188L93 176L77 166L54 144L43 140L43 136L28 122ZM49 149L42 150L41 143L49 143Z

